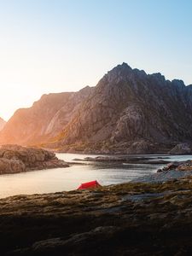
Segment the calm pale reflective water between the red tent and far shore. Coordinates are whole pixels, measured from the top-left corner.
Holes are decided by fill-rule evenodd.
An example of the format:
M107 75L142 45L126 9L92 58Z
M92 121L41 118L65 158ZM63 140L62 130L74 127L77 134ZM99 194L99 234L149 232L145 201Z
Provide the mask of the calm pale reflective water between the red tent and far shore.
M57 154L57 157L73 161L96 155ZM158 155L151 155L156 158ZM146 155L148 157L148 155ZM164 157L161 155L161 157ZM167 157L167 156L165 156ZM170 156L170 160L192 160L192 155ZM165 159L167 160L167 159ZM87 162L86 162L87 163ZM89 163L88 163L89 164ZM102 164L93 162L86 166L23 172L0 176L0 198L9 195L39 194L77 189L80 183L97 180L102 185L125 183L136 177L156 172L162 165Z

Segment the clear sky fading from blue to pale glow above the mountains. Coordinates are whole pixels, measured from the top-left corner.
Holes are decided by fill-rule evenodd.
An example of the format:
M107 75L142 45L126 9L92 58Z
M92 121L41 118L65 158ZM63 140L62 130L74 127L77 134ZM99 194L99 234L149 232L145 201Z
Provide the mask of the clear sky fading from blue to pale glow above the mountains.
M0 0L0 117L128 63L192 84L190 0Z

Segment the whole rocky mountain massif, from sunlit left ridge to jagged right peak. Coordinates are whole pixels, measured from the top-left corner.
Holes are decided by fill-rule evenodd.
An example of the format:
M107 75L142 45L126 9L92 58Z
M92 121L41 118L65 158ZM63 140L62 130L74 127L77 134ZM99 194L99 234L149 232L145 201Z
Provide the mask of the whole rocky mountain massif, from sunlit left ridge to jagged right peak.
M126 63L94 88L42 96L5 125L1 143L64 151L166 152L192 140L192 85Z

